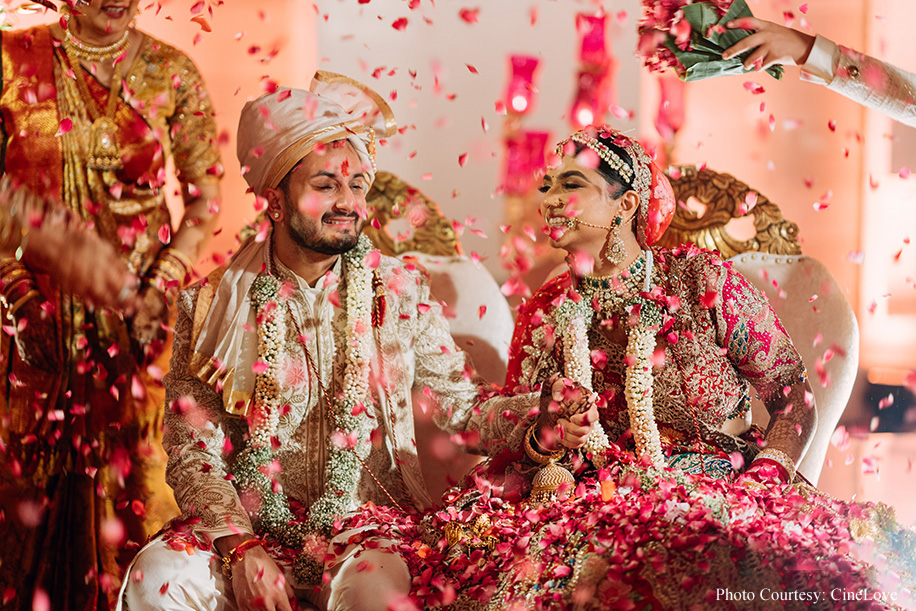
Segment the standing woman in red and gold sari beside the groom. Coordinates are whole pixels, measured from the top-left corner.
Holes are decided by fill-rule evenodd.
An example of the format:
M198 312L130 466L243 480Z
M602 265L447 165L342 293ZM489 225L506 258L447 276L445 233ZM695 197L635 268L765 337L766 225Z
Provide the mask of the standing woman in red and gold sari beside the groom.
M175 512L158 378L169 302L213 232L222 168L198 70L132 27L138 4L83 0L59 23L2 34L3 173L93 224L142 279L135 311L97 309L29 248L0 262L13 330L0 382L0 584L16 608L108 608L129 542ZM174 234L169 158L185 204Z

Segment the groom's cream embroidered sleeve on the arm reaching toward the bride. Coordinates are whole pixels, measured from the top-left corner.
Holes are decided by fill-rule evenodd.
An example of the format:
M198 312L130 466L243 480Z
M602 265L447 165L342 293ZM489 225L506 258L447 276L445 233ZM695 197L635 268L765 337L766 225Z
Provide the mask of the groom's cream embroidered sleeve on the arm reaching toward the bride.
M462 435L466 447L493 455L520 448L526 417L538 397L521 394L482 399L484 381L477 377L470 357L455 345L442 306L429 293L429 281L419 276L418 333L414 388L429 392L435 401L433 420L449 434Z

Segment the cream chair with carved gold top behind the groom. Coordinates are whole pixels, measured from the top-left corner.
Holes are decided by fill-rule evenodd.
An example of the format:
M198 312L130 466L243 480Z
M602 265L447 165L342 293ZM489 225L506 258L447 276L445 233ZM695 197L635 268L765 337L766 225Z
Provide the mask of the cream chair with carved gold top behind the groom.
M379 172L366 197L364 232L383 254L412 259L430 276L433 296L443 304L452 337L471 355L488 382L506 378L513 316L499 285L483 265L465 256L457 233L435 202L389 172ZM480 461L461 451L414 401L417 452L430 496L438 500Z

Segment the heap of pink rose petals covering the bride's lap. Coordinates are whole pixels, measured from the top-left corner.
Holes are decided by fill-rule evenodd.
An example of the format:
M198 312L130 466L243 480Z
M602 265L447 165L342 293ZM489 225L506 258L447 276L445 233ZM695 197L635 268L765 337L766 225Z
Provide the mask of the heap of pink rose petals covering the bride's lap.
M791 583L791 588L799 591L876 590L876 568L856 557L859 545L850 534L851 521L865 517L874 505L845 503L819 493L812 503L791 486L756 490L673 470L651 475L644 465L616 447L609 454L608 468L580 477L574 499L539 509L505 502L492 494L498 488L479 482L478 489L453 490L445 505L425 521L423 514L370 505L341 527L366 528L350 543L375 537L395 542L393 550L406 559L414 576L411 598L421 608L447 608L457 593L485 603L506 572L532 567L530 551L538 538L537 547L543 551L536 561L540 566L534 566L541 582L552 579L557 584L569 579L572 570L566 548L570 535L577 531L588 551L607 562L603 578L592 586L594 608L629 608L633 600L662 608L645 579L647 570L662 575L662 579L667 572L685 591L714 596L717 588L728 587L712 583L702 568L715 549L725 549L732 558L744 557L749 550L758 552L766 565L778 571L784 585ZM601 481L616 487L608 501L602 500ZM489 534L498 541L494 548L450 556L442 536L445 524L458 521L470 525L479 515L491 520ZM902 571L902 583L912 587L916 576L914 533L893 524L884 535L895 533L903 536L897 537L897 553L890 550L895 556L894 569ZM901 538L903 545L899 544ZM653 543L663 550L676 550L679 560L686 559L679 564L694 570L689 574L672 571L664 565L658 546L655 552L647 547ZM548 605L551 609L572 608L569 600L553 596ZM861 601L831 602L835 609L860 609L861 605ZM869 608L899 607L876 602Z

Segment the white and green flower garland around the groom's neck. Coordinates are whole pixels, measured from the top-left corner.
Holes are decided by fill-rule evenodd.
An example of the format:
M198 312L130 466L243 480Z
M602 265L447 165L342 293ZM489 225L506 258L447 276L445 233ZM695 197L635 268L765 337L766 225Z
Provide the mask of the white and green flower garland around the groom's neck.
M261 529L293 550L302 550L310 538L330 535L335 520L357 509L352 495L359 486L362 462L371 449L369 433L374 428L370 410L365 409L372 402L369 394L372 270L364 263L370 249L369 239L360 236L356 247L343 255L347 360L341 395L328 406L333 426L327 440L325 493L309 508L305 521L293 514L282 486L269 475L276 459L272 444L277 436L284 395L279 382L280 356L291 312L281 299L282 282L277 276L261 273L252 285L251 300L257 309L258 325L254 408L249 439L236 460L233 475L241 490L254 494L260 501L253 517ZM303 350L307 350L304 345ZM305 358L311 361L308 354ZM309 369L310 377L312 373ZM314 374L317 376L318 371ZM318 384L323 389L320 379ZM325 398L331 401L329 396ZM318 548L323 553L314 541L307 547ZM294 571L300 582L316 583L323 571L320 556L316 559L310 553L300 553Z

